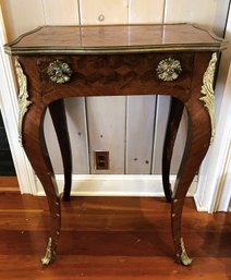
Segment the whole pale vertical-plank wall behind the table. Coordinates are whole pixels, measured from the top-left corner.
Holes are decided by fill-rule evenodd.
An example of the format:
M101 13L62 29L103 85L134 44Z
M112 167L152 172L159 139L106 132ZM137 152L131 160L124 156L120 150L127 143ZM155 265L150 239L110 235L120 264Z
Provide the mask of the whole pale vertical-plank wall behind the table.
M119 24L193 22L222 35L228 0L2 0L9 40L45 24ZM158 93L157 93L158 94ZM110 153L108 174L160 174L169 97L90 97L65 100L74 174L94 169L93 151ZM144 126L145 123L145 126ZM175 174L185 142L184 117L173 153ZM50 117L45 131L54 172L61 156Z

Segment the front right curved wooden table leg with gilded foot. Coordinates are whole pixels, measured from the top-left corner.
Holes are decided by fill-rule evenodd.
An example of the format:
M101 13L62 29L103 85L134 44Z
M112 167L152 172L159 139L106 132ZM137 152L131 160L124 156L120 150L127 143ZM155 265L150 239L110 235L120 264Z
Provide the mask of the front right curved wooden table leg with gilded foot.
M192 259L186 254L181 234L182 209L189 187L209 147L211 126L208 112L199 100L190 101L186 108L189 114L187 141L172 196L171 224L177 259L189 266Z

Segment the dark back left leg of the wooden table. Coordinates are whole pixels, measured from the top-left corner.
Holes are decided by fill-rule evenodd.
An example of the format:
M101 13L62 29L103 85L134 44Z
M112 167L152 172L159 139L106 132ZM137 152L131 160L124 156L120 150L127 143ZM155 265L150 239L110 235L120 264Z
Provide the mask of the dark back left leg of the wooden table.
M63 100L60 99L51 102L49 105L49 111L62 155L65 179L63 200L70 200L72 184L72 154Z

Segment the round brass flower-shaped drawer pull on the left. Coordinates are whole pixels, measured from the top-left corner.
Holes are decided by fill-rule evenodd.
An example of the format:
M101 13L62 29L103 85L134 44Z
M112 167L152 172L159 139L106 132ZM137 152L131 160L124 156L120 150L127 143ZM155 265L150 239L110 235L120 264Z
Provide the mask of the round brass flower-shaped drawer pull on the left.
M50 62L47 74L53 83L64 84L70 81L72 76L72 70L66 62L54 60Z

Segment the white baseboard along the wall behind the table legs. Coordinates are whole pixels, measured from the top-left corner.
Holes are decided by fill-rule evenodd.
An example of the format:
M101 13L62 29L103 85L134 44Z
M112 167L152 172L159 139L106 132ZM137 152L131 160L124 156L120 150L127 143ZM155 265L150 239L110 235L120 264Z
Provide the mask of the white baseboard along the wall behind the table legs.
M175 175L170 176L174 185ZM64 178L56 175L59 193L63 192ZM189 190L187 196L194 196L197 176ZM73 175L73 196L154 196L163 197L161 175ZM37 195L45 195L37 180Z

